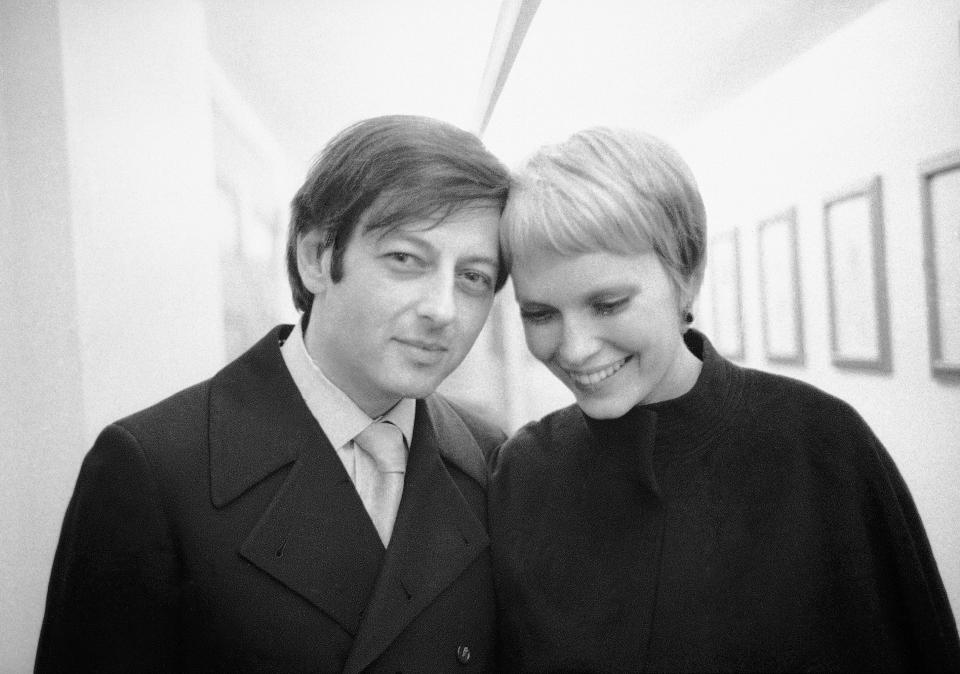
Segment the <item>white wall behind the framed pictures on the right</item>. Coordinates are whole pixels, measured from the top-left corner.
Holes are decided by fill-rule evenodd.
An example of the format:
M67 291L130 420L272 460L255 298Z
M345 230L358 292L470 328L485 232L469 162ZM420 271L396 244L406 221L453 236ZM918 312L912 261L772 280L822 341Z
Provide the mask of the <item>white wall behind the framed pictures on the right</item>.
M960 149L958 26L955 0L888 0L678 143L700 182L711 232L739 230L747 364L810 381L866 418L913 492L955 615L960 386L930 374L917 165ZM875 174L883 180L890 375L831 365L826 308L823 202ZM806 365L777 367L763 357L756 225L791 206ZM709 305L700 310L709 313Z

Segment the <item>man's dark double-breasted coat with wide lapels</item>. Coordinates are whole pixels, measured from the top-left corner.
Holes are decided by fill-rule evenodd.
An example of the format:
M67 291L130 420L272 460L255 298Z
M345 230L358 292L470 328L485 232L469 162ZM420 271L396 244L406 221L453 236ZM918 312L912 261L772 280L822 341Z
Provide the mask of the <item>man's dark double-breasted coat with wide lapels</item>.
M502 433L417 401L384 551L271 331L107 427L54 561L37 671L483 670L494 655L484 453Z

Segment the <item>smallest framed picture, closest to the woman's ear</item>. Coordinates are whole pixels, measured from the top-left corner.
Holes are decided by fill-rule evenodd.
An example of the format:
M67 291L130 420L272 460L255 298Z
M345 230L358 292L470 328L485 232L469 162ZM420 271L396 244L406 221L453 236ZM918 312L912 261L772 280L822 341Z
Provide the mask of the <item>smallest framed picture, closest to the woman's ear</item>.
M713 238L708 265L713 300L713 344L727 358L742 360L745 349L737 230L732 229Z

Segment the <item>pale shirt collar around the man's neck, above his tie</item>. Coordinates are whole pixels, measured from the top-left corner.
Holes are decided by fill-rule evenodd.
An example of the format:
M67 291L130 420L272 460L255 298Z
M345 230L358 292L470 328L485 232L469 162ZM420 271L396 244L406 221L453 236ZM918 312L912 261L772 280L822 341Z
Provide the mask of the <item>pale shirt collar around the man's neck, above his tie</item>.
M396 425L403 433L407 447L410 446L416 415L414 399L401 398L386 414L371 419L346 393L327 379L316 361L310 357L299 324L293 326L290 336L280 347L280 353L293 383L307 403L307 408L334 449L350 442L360 431L377 420L387 420Z

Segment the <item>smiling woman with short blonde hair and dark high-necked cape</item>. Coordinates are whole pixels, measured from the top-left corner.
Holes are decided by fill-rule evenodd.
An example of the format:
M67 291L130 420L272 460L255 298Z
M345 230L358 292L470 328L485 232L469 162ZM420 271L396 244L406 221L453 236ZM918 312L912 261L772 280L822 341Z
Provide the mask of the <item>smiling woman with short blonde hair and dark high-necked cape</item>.
M576 405L494 457L509 671L960 670L890 456L846 403L691 329L689 169L592 129L521 169L501 242L527 345Z

